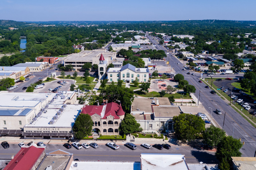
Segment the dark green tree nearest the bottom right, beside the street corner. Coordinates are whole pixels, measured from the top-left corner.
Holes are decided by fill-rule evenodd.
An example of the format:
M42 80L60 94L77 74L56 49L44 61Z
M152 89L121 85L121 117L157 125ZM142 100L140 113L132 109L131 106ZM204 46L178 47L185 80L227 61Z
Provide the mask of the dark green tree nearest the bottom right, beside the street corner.
M219 161L224 159L228 161L229 165L231 165L231 157L240 157L242 155L242 153L239 152L242 146L243 144L238 139L231 136L225 136L217 145L215 156Z

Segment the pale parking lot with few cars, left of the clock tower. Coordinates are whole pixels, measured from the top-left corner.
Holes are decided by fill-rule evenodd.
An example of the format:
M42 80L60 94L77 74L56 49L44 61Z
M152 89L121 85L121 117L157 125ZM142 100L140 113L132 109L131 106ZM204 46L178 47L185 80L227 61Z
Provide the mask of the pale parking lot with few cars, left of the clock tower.
M69 91L71 83L74 83L74 80L71 79L64 79L64 81L68 82L66 85L60 85L57 82L63 81L63 80L54 80L51 82L44 83L44 87L41 89L35 89L34 92L50 92L48 89L52 88L55 89L58 86L62 86L62 88L59 89L59 91Z

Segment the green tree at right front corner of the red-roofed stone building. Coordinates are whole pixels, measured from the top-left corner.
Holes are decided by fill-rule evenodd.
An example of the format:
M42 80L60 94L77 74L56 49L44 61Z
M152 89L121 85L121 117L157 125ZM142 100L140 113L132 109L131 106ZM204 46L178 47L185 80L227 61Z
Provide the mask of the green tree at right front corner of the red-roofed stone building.
M140 123L137 123L135 117L131 114L126 114L124 120L120 125L120 131L124 134L130 134L133 132L137 132L140 129Z

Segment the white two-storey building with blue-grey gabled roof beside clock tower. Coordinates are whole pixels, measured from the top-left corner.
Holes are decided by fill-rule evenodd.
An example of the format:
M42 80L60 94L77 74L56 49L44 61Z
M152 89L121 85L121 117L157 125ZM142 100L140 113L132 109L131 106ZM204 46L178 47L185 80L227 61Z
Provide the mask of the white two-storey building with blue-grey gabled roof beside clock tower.
M136 68L131 64L126 64L122 68L108 68L106 75L108 82L123 80L126 83L132 83L137 77L140 83L146 83L149 78L149 70L148 68Z

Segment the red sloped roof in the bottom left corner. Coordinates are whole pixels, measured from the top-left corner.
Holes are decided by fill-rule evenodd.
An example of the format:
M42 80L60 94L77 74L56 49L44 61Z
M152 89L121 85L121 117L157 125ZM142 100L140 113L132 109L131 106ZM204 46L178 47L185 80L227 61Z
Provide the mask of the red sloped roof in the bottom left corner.
M35 146L22 147L15 157L5 166L4 170L29 170L42 155L45 148Z

